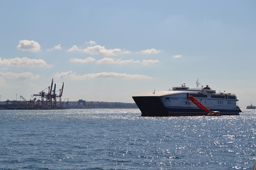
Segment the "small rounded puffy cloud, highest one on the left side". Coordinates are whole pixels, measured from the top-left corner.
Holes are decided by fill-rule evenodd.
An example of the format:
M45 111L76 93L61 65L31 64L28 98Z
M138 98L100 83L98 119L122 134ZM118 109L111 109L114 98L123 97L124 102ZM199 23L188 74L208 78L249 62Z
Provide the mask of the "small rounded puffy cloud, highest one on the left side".
M29 41L29 40L20 40L19 45L17 46L18 49L28 52L39 52L41 46L38 42Z

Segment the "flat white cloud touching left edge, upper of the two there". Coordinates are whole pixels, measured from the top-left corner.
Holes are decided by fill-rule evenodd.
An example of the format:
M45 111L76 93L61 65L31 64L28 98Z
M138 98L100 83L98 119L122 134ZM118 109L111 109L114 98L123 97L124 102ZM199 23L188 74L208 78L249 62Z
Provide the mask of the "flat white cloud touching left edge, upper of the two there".
M0 65L12 66L12 67L52 67L48 65L43 59L28 59L24 58L13 58L13 59L3 59L0 58Z

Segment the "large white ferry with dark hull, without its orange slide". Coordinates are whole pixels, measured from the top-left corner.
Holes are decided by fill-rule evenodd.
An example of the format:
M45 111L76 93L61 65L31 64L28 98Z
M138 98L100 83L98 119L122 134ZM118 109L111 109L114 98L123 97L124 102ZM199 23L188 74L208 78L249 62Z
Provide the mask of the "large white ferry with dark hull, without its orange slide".
M203 116L204 110L188 97L193 96L211 111L222 115L239 115L236 94L216 93L208 85L203 88L189 88L185 83L167 91L134 95L132 98L141 111L141 116Z

